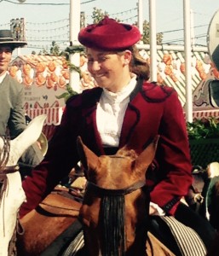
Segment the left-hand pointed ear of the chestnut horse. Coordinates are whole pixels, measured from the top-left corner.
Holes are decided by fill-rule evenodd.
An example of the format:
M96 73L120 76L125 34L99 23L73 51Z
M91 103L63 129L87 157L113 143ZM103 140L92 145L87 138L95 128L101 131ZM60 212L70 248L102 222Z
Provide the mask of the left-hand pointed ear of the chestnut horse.
M82 141L81 137L77 139L78 154L82 164L86 170L94 170L99 162L98 156L92 152L88 147L86 147Z

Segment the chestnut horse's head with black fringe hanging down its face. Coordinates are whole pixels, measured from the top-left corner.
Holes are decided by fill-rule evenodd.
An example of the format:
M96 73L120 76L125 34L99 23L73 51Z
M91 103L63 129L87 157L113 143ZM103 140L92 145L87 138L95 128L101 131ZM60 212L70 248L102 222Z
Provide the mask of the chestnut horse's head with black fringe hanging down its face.
M79 216L89 255L145 255L150 201L145 175L157 143L155 137L139 155L124 147L98 157L78 137L88 179Z

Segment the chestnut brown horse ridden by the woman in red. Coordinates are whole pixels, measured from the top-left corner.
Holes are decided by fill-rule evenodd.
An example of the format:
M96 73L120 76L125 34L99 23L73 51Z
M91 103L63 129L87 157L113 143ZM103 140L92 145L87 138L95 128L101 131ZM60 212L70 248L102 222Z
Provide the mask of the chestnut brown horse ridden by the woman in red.
M88 167L88 172L84 172L87 180L85 194L78 195L78 189L72 189L73 185L64 190L63 187L56 186L35 210L20 219L25 232L18 236L18 255L99 255L99 251L102 251L102 255L107 256L104 248L108 250L112 247L110 255L113 256L118 255L117 250L127 256L133 253L142 256L146 253L153 256L174 256L152 234L147 234L149 198L146 193L145 172L153 160L157 141L158 137L139 156L133 150L121 148L116 155L102 155L99 158L78 137L78 152L83 166ZM112 178L114 182L108 182L106 178ZM111 194L104 195L105 201L110 200L112 207L118 212L112 211L112 207L108 211L107 204L106 209L102 209L101 199L95 196L98 190ZM69 195L72 194L71 191L73 197ZM101 213L99 207L102 209ZM106 234L106 227L101 230L101 225L106 226L108 220L110 224L107 224L107 230L113 230L114 236L110 232ZM80 247L72 248L82 230L84 254L80 254ZM78 250L78 254L72 254L71 250Z

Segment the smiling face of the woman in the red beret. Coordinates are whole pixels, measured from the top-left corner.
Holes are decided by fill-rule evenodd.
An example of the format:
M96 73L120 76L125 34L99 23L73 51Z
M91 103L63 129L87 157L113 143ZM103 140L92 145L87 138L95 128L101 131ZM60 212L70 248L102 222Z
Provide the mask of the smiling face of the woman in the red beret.
M97 84L117 92L130 80L130 50L121 53L87 49L88 70Z

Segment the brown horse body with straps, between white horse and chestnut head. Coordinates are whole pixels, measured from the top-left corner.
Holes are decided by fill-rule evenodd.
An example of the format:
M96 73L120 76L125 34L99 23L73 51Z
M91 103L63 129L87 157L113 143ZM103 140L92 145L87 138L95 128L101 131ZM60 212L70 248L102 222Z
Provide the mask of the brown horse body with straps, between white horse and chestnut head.
M77 223L80 207L80 196L77 195L77 191L56 187L36 209L20 219L24 234L17 236L18 254L41 255L61 234ZM76 230L78 232L78 229ZM63 243L59 245L61 250Z

